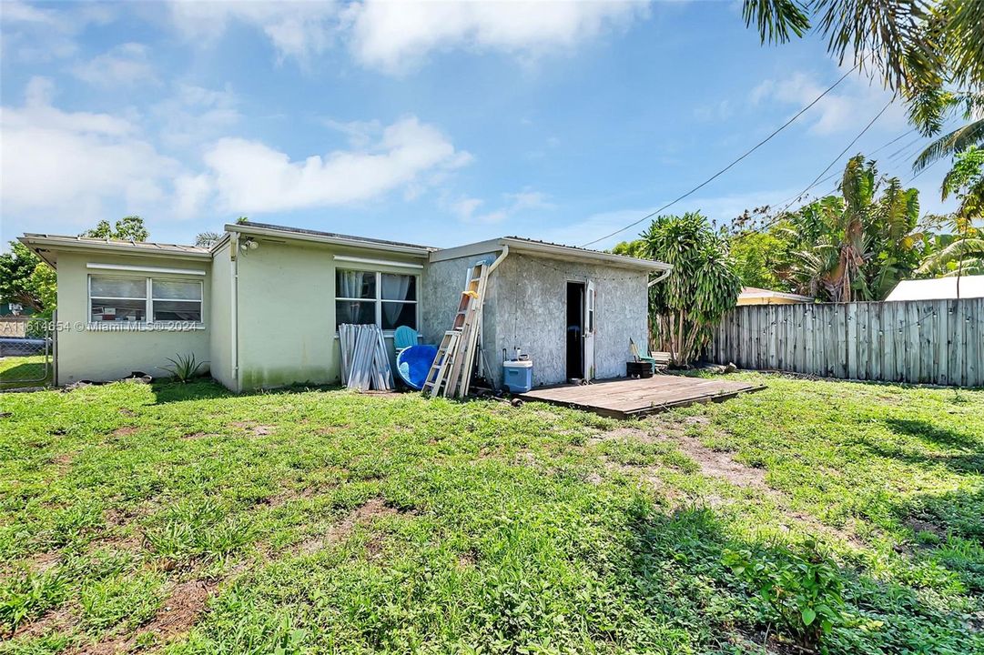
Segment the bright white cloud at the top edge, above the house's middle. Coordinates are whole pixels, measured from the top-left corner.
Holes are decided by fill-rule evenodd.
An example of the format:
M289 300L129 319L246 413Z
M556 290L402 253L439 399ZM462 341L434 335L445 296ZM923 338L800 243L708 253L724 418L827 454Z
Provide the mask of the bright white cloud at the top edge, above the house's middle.
M524 57L563 50L645 14L643 2L387 2L351 5L351 49L364 65L400 72L455 47Z

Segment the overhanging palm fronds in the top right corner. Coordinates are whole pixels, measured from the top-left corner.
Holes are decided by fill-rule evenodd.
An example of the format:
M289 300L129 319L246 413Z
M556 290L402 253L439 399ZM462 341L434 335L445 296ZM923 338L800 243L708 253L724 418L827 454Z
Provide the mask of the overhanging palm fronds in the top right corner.
M927 137L960 116L965 124L926 147L916 171L984 146L984 1L745 0L743 16L763 42L802 36L816 22L830 54L841 63L850 57L899 92Z

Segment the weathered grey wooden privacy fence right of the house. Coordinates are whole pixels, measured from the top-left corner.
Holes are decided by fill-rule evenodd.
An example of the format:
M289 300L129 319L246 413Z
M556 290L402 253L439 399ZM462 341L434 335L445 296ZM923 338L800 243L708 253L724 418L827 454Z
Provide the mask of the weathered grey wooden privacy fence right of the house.
M708 355L742 369L984 386L984 298L736 307Z

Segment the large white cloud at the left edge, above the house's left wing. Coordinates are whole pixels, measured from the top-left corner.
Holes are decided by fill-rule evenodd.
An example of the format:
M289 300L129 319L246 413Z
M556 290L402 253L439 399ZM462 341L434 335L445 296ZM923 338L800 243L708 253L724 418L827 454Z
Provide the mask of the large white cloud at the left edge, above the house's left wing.
M179 164L160 156L132 122L62 111L51 105L52 93L49 81L34 78L23 106L0 110L5 214L54 213L79 223L98 216L106 200L159 202Z

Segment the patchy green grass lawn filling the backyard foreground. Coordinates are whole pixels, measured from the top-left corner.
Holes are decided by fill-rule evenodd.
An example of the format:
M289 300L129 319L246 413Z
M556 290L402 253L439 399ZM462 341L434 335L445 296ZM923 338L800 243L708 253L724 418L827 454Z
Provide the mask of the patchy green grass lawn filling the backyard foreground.
M984 391L737 377L0 396L0 652L984 652Z

